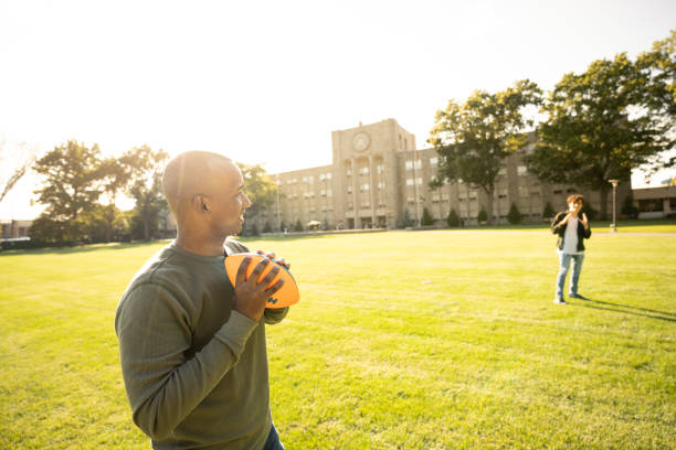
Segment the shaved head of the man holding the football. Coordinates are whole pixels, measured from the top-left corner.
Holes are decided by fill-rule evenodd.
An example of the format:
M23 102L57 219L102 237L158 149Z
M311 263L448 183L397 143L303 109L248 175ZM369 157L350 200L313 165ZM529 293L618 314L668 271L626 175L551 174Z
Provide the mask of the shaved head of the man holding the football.
M162 175L162 191L179 232L214 239L242 231L244 210L251 206L243 188L240 169L230 159L208 151L179 154Z

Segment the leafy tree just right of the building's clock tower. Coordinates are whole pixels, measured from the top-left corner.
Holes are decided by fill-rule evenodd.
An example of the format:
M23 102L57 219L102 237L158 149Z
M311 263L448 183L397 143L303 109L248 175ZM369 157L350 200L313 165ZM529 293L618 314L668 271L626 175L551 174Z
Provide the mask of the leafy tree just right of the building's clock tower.
M474 92L467 101L448 101L436 113L429 142L440 156L440 182L465 181L486 193L488 217L493 221L493 194L500 163L526 144L526 127L534 121L524 109L540 103L541 90L522 79L496 94Z

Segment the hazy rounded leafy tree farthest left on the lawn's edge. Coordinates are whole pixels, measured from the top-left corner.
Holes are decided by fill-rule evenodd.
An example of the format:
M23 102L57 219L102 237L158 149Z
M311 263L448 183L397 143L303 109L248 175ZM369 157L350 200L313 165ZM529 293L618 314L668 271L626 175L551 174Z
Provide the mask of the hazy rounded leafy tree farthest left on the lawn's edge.
M38 226L32 227L47 243L76 243L82 239L77 221L85 208L92 208L102 193L101 150L70 140L35 162L34 170L45 178L35 194L46 205ZM46 222L53 222L47 224ZM49 237L49 233L56 235ZM31 235L32 236L32 235Z

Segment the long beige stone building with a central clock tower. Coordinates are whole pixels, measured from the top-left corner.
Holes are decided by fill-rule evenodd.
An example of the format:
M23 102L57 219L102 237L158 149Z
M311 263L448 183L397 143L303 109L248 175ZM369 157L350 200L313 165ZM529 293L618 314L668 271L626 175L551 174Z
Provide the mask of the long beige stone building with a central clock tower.
M451 210L465 224L476 224L486 205L484 191L467 183L431 189L430 181L439 168L436 151L416 150L415 136L394 119L334 131L331 140L332 164L271 175L279 183L281 195L278 205L273 204L253 219L258 231L277 229L278 224L291 229L298 221L304 228L310 223L323 229L394 228L406 217L420 223L424 208L436 225L445 223ZM525 222L541 222L547 202L554 211L563 210L566 197L573 192L581 192L594 210L600 210L596 192L542 183L528 173L522 157L532 146L508 157L499 171L494 197L496 222L507 222L513 202ZM619 205L630 192L629 183L617 188ZM612 195L608 201L611 212Z

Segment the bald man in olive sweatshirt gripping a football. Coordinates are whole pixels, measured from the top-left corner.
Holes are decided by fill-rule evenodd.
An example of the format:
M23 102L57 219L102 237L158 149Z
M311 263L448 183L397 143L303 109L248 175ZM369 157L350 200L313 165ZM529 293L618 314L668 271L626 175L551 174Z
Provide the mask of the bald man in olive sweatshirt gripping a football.
M191 151L165 169L162 190L178 234L136 274L115 317L134 422L155 449L284 449L272 422L265 324L264 259L235 287L224 258L249 249L229 238L242 231L251 201L240 169L216 153ZM272 255L270 255L272 256ZM285 264L286 265L286 264Z

